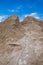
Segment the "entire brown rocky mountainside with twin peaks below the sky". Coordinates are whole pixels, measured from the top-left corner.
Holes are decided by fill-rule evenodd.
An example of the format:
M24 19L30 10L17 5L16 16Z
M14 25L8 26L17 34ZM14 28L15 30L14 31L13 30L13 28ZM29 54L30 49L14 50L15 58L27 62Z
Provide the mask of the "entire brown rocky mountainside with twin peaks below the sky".
M0 23L0 65L43 65L43 21L13 15Z

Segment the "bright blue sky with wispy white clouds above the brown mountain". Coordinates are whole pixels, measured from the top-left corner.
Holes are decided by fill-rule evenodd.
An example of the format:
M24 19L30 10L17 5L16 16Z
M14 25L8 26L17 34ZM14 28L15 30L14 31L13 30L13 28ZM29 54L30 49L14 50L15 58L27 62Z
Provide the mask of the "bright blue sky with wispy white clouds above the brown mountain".
M0 22L11 15L43 20L43 0L0 0Z

